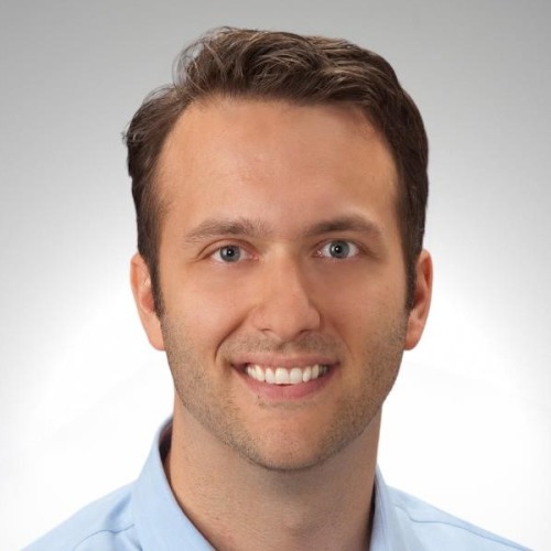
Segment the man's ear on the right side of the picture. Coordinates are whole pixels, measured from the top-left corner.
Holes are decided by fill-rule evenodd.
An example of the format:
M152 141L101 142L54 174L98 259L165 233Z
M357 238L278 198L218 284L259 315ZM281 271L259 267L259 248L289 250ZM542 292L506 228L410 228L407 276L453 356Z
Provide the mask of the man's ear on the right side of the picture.
M432 296L432 259L426 250L421 251L415 266L415 289L413 292L413 307L408 317L406 333L407 350L414 348L423 334Z

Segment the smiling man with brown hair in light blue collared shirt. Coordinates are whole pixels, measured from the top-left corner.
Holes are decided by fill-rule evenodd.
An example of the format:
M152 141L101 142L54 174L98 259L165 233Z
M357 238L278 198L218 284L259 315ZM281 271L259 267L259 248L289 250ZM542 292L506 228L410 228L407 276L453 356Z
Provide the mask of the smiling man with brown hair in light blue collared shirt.
M428 142L388 63L339 40L218 30L127 144L131 284L174 415L136 483L31 549L521 549L376 467L432 287Z

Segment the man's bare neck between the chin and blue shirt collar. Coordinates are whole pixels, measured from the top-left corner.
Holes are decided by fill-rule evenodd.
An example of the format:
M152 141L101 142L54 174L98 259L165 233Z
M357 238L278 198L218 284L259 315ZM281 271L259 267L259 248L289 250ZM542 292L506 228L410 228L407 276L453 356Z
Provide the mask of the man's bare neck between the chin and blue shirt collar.
M182 509L218 550L365 550L380 413L354 442L307 469L250 463L175 408L166 474Z

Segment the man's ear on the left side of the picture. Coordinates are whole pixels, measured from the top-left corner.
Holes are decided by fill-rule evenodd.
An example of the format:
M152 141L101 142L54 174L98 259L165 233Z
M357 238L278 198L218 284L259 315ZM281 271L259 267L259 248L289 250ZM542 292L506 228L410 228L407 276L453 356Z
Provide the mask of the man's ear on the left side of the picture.
M164 350L161 322L156 315L153 300L151 276L148 264L138 253L136 253L130 261L130 284L132 285L132 293L134 295L136 305L138 306L141 324L145 329L151 346L158 350Z

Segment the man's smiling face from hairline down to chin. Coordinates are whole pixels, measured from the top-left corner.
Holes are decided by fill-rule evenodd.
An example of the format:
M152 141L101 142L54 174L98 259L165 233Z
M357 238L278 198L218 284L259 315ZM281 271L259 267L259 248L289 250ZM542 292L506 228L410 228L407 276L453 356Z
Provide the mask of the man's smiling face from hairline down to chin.
M424 324L383 140L345 106L216 99L160 162L164 311L144 324L176 414L268 468L323 462L377 417Z

